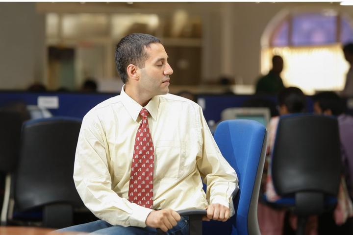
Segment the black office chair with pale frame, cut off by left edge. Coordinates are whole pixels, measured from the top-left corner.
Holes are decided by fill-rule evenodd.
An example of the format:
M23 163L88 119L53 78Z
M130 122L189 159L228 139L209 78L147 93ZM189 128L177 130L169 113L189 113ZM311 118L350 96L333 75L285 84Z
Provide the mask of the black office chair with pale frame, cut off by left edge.
M0 172L5 176L1 225L6 223L10 198L11 173L15 170L20 148L23 118L18 112L0 111Z

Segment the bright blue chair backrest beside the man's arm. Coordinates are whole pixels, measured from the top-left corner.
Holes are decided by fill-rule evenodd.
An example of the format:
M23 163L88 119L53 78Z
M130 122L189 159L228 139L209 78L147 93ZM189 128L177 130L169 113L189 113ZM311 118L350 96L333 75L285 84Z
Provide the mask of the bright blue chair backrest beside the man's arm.
M259 235L257 201L265 162L266 129L253 120L222 121L215 141L235 169L239 191L234 198L235 215L227 222L204 223L203 234Z

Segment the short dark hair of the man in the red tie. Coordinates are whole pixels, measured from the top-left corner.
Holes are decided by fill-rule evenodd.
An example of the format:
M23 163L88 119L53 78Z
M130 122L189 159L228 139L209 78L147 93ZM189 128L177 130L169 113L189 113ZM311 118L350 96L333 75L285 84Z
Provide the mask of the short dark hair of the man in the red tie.
M118 74L124 83L127 82L126 68L129 64L145 67L148 54L145 47L160 40L150 34L133 33L122 38L115 50L115 63Z

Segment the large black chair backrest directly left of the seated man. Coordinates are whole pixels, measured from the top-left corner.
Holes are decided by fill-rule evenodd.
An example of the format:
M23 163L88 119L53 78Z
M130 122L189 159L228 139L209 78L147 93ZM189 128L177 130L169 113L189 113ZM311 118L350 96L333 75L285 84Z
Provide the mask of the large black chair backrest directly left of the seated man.
M60 202L83 205L73 181L80 126L81 120L76 118L43 118L24 123L14 184L18 209Z

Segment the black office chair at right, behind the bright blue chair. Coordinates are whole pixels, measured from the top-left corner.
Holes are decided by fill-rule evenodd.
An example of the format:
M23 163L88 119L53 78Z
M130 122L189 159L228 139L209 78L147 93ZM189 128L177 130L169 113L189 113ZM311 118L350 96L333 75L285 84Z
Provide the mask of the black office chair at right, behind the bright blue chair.
M272 177L282 198L275 204L298 215L297 235L307 217L332 209L337 202L341 154L337 119L309 114L279 119Z

